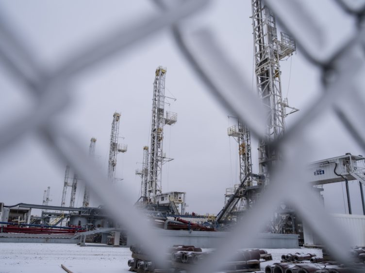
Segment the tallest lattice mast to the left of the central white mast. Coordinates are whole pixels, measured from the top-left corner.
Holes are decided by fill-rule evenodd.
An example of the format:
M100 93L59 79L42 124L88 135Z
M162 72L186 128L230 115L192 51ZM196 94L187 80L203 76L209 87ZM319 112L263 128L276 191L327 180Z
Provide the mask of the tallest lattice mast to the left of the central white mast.
M112 130L110 133L108 178L114 183L116 173L116 155L119 152L127 152L126 144L118 144L120 113L113 114Z

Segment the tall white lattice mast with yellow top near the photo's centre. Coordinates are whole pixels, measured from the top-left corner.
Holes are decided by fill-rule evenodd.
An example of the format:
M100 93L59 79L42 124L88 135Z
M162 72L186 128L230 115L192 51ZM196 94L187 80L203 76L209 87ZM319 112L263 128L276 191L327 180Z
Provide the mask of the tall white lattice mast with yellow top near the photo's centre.
M151 150L149 153L148 202L155 204L156 195L162 193L162 165L166 159L163 153L164 125L172 125L177 121L177 114L166 111L165 114L165 76L166 67L156 69L153 82Z

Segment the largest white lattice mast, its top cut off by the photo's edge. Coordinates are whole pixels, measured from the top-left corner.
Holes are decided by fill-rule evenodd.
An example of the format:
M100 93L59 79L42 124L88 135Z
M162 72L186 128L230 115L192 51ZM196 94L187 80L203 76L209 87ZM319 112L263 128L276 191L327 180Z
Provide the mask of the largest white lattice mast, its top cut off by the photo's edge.
M275 17L263 0L252 0L252 26L256 85L268 113L266 136L259 140L259 175L265 175L265 182L268 182L267 169L279 159L279 155L268 144L282 136L285 117L298 111L288 106L287 100L282 98L280 71L280 60L291 56L296 45L283 32L281 41L278 40ZM285 107L290 108L291 112L286 114Z

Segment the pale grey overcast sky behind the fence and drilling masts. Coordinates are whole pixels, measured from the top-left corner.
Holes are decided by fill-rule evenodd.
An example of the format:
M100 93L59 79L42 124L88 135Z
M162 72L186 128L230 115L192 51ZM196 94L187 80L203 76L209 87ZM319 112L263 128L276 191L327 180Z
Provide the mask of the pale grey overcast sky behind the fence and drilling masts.
M249 82L253 79L250 2L211 1L204 12L184 22L185 32L199 28L212 30L230 61ZM332 44L336 45L352 29L353 22L338 10L334 1L311 0L307 4L314 16L320 15L326 39L333 41ZM158 13L147 0L0 0L0 7L33 56L50 69L75 48L108 30L120 25L128 27L146 15ZM318 14L319 10L326 13ZM177 98L169 110L178 113L178 122L165 127L164 150L174 160L164 166L163 191L186 192L189 212L217 213L224 205L226 188L238 182L237 145L227 136L227 127L234 121L228 119L229 113L183 59L167 29L77 77L71 105L54 122L77 136L85 151L90 138L96 137L96 160L106 173L113 113L121 112L119 132L124 139L120 141L128 144L128 152L118 155L116 177L123 179L117 182L118 189L128 192L131 200L137 200L141 181L134 171L140 167L136 163L142 161L142 147L149 145L152 83L159 65L167 68L166 95ZM301 109L287 118L290 126L318 97L320 75L300 51L281 65L282 92L291 106ZM0 125L26 113L34 103L1 64L0 93ZM313 161L346 152L364 154L333 113L318 117L309 135L316 148ZM253 141L252 147L253 169L257 172L257 142ZM40 204L43 191L50 186L50 204L60 205L65 167L35 134L26 135L0 156L0 202ZM361 214L358 183L349 183L353 213ZM345 212L342 186L341 183L325 186L329 212ZM80 182L77 205L82 201ZM92 199L91 205L99 203Z

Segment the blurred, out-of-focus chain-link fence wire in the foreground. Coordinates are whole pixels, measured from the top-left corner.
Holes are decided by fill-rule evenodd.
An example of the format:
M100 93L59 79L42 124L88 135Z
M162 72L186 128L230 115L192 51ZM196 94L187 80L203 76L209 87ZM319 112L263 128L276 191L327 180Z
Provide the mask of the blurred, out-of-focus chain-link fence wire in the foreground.
M264 136L265 119L260 100L253 95L248 84L249 76L239 75L225 57L224 48L218 45L212 32L209 29L199 30L195 34L183 32L181 21L204 10L208 1L185 0L169 5L161 0L154 2L160 14L141 19L127 28L116 28L95 43L84 45L83 49L75 51L52 71L43 70L22 43L22 37L11 29L11 22L0 15L0 61L37 101L37 106L31 112L1 126L0 150L11 149L26 133L36 132L56 158L70 164L83 177L115 215L116 220L123 223L130 234L139 238L155 258L162 259L158 257L160 252L153 250L156 246L161 247L163 238L153 235L153 229L146 225L141 213L124 201L123 193L120 196L121 193L113 191L103 174L82 151L77 140L51 122L52 117L70 103L68 94L72 91L72 80L128 46L169 28L183 58L196 71L207 90L230 113L239 117L253 136ZM357 20L354 34L335 50L326 50L320 26L311 19L313 15L302 8L300 0L266 0L265 3L284 29L296 39L305 58L321 70L321 98L273 143L284 156L283 161L272 170L270 185L260 201L247 213L245 221L237 224L217 246L215 254L199 265L196 270L199 273L216 272L220 263L228 260L238 248L251 244L257 230L265 226L274 208L282 201L294 204L302 220L320 236L339 260L349 260L348 252L344 251L350 248L348 234L333 223L310 187L306 186L303 171L313 144L306 139L305 132L310 130L310 121L322 113L331 112L342 122L353 140L365 150L365 127L360 126L363 123L359 120L365 115L361 85L365 75L365 1L337 0L332 3L338 4L344 13ZM298 157L298 154L301 156Z

